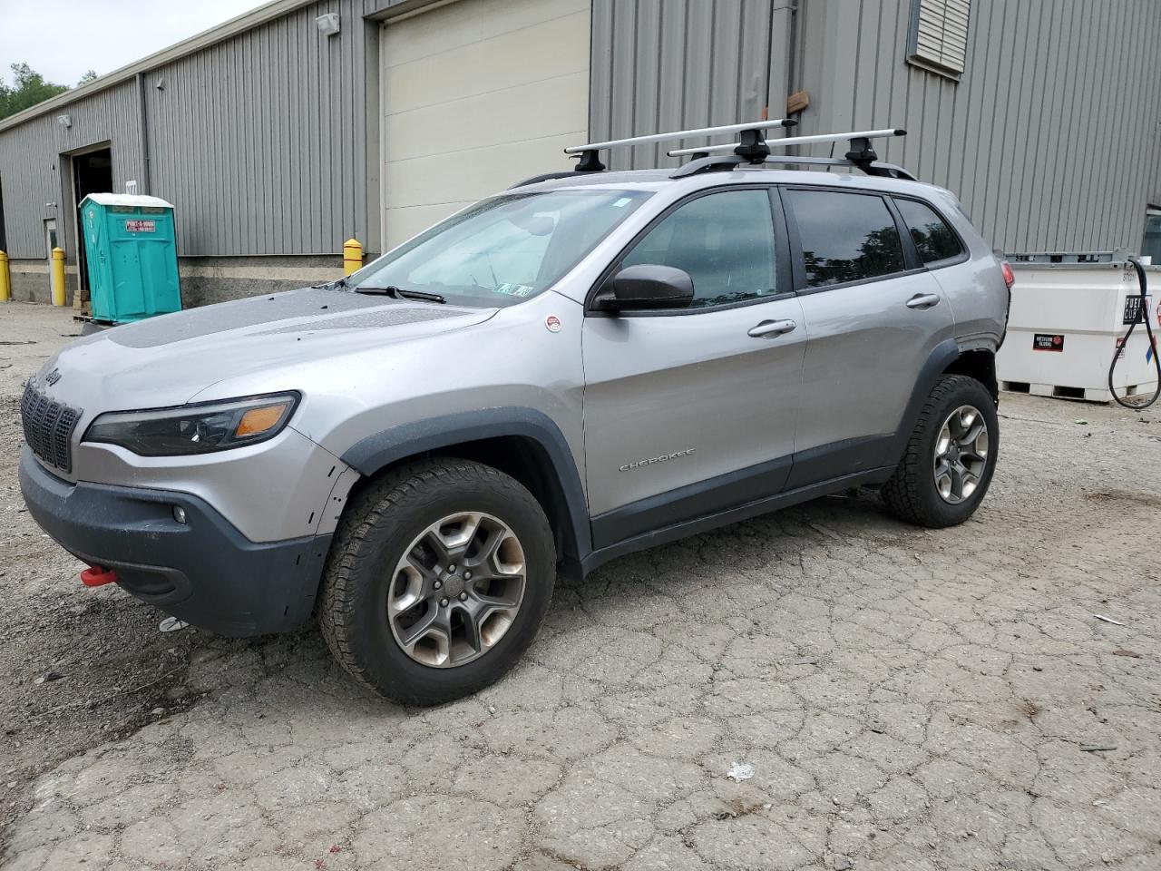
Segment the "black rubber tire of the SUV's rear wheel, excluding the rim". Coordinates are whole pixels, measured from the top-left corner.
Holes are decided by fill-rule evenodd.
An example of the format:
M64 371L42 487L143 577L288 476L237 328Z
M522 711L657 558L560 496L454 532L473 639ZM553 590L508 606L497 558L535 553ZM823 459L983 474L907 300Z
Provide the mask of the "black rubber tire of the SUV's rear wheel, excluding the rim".
M939 495L936 487L935 449L944 422L961 405L972 405L980 411L987 426L989 444L983 473L975 490L962 502L951 504ZM972 516L988 491L998 448L1000 422L991 394L967 375L944 375L923 404L903 459L895 474L882 487L882 499L896 517L918 526L943 528L961 524Z

